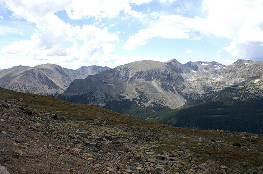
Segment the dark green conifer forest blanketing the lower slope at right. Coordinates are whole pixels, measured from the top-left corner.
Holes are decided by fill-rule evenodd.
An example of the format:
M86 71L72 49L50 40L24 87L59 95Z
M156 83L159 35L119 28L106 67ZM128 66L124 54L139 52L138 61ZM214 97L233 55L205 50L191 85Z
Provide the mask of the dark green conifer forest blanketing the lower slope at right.
M233 104L210 101L170 111L148 121L183 128L223 129L263 135L263 99L236 101Z

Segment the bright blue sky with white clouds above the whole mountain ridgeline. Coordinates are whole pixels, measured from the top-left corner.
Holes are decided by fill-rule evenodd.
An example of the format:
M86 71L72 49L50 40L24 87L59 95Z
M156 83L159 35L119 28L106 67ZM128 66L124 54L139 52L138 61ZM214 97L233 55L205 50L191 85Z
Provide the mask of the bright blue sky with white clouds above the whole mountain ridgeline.
M263 0L0 0L0 69L262 55Z

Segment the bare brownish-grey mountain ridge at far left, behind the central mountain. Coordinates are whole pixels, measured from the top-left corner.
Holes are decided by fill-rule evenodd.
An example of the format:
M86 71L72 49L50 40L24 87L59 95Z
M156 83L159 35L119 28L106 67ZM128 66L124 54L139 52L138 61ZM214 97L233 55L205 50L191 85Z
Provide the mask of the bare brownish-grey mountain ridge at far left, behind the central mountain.
M74 79L86 78L109 69L106 66L82 66L72 70L54 64L14 66L0 72L0 87L26 93L60 94Z

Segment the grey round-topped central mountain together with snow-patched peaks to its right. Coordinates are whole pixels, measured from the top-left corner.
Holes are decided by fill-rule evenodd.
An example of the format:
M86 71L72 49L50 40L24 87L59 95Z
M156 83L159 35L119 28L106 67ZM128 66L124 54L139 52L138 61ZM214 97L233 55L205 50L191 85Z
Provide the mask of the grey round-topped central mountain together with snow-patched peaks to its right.
M243 89L238 95L246 99L263 97L262 70L262 62L249 60L229 66L218 62L183 65L175 59L165 63L137 61L74 80L60 98L146 118L161 110L210 101L217 97L215 92L233 86ZM243 93L247 90L255 95ZM138 116L143 110L147 113Z

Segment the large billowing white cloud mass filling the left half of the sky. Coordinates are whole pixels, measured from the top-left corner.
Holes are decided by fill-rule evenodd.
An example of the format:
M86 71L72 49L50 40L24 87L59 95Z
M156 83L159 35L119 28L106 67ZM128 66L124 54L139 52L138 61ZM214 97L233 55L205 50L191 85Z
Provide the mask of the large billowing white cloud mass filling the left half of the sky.
M65 64L70 62L82 64L82 62L86 62L105 65L114 56L112 52L115 43L119 42L118 35L109 33L107 27L101 29L93 25L73 26L54 15L55 12L68 7L77 8L74 3L77 2L70 3L70 1L61 0L52 1L52 3L51 1L20 1L15 3L6 1L5 6L13 11L13 17L24 18L34 23L37 30L29 40L15 41L10 45L5 45L2 52L10 55L20 55L35 62L45 60L46 62L59 64L63 64L62 62ZM53 5L50 6L50 4ZM105 8L106 5L104 4ZM92 8L92 4L89 4L89 7ZM105 16L114 16L116 14L114 11L115 9L106 12ZM97 15L96 12L93 11L93 16ZM70 14L71 17L75 16L76 18L87 15L85 13L74 13L73 10Z

